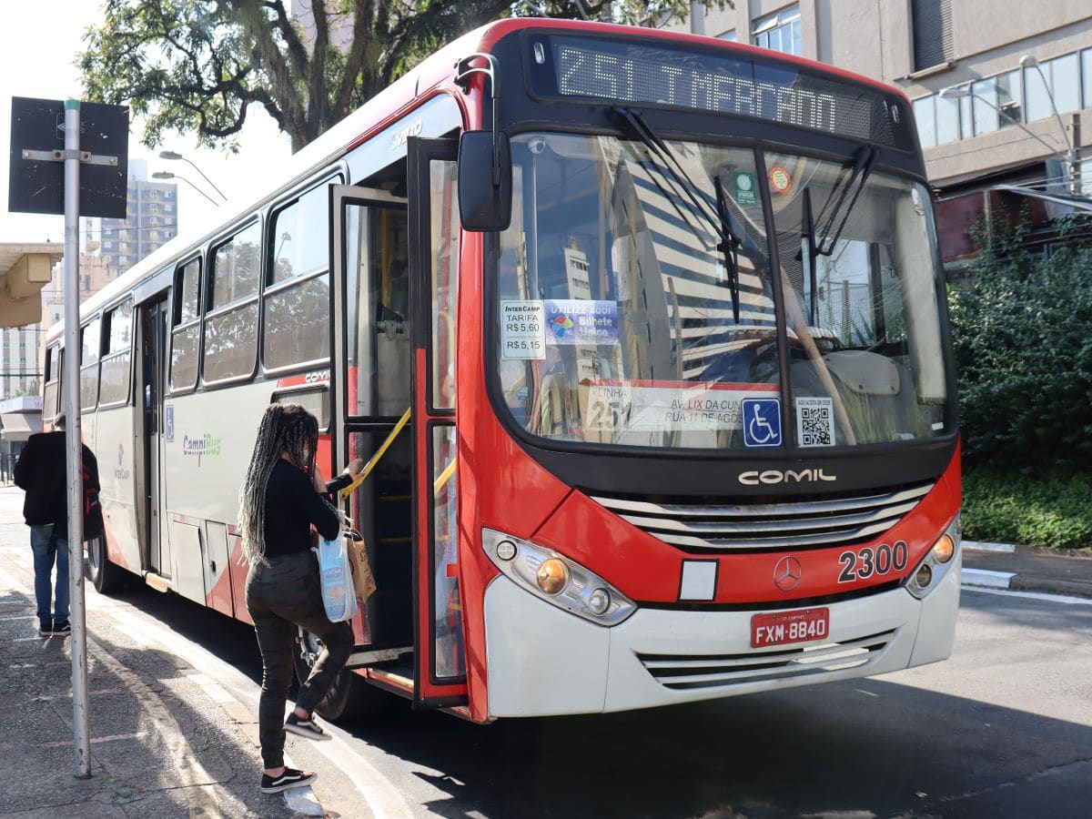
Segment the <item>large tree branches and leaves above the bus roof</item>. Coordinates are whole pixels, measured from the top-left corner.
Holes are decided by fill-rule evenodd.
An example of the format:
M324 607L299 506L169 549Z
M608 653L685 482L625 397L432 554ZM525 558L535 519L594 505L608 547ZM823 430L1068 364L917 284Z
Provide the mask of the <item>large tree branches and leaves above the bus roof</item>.
M299 17L293 5L305 7ZM498 17L651 25L689 10L687 0L106 0L79 66L91 99L144 119L149 147L169 130L234 147L257 104L297 150L443 43Z

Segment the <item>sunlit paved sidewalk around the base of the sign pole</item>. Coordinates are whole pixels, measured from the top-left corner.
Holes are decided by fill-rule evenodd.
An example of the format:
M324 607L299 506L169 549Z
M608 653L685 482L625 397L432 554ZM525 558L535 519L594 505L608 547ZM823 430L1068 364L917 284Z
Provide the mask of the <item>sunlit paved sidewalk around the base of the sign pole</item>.
M0 690L7 702L0 816L300 816L284 795L259 791L250 711L186 658L150 648L108 608L90 618L92 775L75 779L71 639L38 637L21 506L21 491L0 488ZM322 815L310 788L293 792L293 802Z

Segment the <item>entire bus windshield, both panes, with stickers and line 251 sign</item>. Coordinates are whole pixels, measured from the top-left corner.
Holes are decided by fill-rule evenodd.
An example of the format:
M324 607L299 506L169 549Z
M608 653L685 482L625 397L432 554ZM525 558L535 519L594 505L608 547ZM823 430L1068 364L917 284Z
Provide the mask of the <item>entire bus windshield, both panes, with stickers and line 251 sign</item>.
M923 186L871 173L874 155L661 145L512 140L495 361L517 423L553 440L738 450L951 431Z

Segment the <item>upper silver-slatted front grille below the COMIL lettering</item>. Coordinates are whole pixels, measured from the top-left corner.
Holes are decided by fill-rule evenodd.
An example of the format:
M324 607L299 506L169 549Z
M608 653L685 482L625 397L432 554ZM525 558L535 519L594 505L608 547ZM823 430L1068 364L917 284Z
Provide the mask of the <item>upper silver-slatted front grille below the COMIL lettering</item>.
M819 548L887 532L935 486L783 503L653 503L592 496L592 500L664 543L687 550L765 551Z

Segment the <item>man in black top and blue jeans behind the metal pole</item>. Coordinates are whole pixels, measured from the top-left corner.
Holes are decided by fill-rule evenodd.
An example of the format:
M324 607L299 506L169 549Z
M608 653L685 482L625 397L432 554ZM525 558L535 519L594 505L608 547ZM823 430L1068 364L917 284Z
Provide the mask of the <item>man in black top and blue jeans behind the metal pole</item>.
M54 431L32 435L15 464L15 484L26 491L23 518L31 527L34 550L34 596L38 605L38 633L67 637L69 624L68 470L64 416ZM84 491L98 492L98 461L83 447ZM78 554L82 557L82 554ZM52 571L57 565L57 593Z

